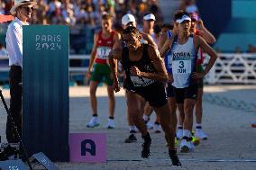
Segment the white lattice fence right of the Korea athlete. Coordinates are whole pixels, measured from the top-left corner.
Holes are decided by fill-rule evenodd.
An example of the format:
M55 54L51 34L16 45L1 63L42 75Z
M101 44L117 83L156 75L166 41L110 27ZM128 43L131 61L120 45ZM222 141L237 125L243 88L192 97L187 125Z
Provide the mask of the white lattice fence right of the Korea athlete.
M256 54L219 53L218 56L205 78L206 83L256 85ZM208 60L206 56L205 63Z

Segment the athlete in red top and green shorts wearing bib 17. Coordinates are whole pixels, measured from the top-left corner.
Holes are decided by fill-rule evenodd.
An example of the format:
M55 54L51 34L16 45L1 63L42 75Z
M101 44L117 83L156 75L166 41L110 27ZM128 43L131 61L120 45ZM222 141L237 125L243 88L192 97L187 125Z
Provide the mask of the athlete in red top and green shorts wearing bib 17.
M87 77L90 78L90 102L93 118L87 123L88 128L94 128L99 125L97 120L96 109L96 88L101 81L107 85L107 93L109 99L109 119L107 128L114 128L114 90L113 80L111 78L111 70L108 65L108 54L113 48L114 43L120 40L120 35L112 30L112 16L103 14L102 31L95 34L94 47L91 52L90 63L88 67ZM92 67L94 71L92 72Z

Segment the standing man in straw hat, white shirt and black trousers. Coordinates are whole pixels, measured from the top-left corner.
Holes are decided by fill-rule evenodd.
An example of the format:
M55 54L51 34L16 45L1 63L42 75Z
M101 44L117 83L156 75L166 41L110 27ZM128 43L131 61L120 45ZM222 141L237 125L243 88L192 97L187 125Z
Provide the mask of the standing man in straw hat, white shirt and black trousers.
M22 71L23 71L23 25L28 25L32 17L35 2L29 0L15 0L10 13L15 16L6 32L6 49L9 56L9 84L10 84L10 114L22 134ZM7 117L6 139L17 142L17 136L10 116Z

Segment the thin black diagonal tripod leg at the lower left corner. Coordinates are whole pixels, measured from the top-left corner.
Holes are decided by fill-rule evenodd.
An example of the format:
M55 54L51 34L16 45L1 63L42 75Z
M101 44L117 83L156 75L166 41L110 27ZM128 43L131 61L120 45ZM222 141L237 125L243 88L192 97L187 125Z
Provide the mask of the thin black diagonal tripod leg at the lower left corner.
M11 122L12 122L12 125L14 126L14 132L16 133L17 138L18 138L18 140L19 140L20 147L21 147L21 149L22 149L22 151L23 151L25 160L26 160L26 162L28 163L28 166L30 167L30 170L33 170L33 169L32 169L32 164L31 164L30 159L29 159L29 157L28 157L28 153L27 153L26 150L25 150L25 147L24 147L24 144L23 144L23 140L22 140L22 138L21 138L21 136L20 136L20 133L19 133L19 131L18 131L18 129L17 129L17 126L16 126L16 124L15 124L15 122L14 122L13 116L12 116L12 114L10 113L10 111L9 111L9 109L8 109L8 107L7 107L7 104L5 103L5 98L4 98L4 95L2 94L2 90L1 90L1 89L0 89L0 97L1 97L1 99L2 99L2 102L3 102L4 105L5 105L5 111L7 112L7 115L10 117L10 120L11 120Z

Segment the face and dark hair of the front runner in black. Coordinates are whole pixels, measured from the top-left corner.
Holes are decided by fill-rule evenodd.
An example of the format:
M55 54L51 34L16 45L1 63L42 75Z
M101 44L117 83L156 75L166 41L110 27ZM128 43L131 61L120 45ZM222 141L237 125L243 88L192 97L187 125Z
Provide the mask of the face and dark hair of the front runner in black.
M139 36L134 33L123 34L123 42L126 44L127 48L130 50L135 50L140 46Z

